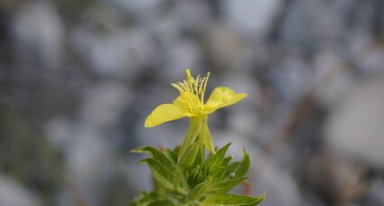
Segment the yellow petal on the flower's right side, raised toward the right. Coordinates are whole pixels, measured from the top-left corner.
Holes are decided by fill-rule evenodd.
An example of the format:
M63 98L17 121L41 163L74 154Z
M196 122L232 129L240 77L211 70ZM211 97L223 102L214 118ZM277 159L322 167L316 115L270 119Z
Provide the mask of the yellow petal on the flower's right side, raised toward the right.
M247 94L239 93L237 94L234 90L226 87L218 87L214 89L211 93L210 98L208 98L207 103L205 104L205 111L207 114L212 113L218 108L224 108L229 105L237 103L239 100L246 98Z

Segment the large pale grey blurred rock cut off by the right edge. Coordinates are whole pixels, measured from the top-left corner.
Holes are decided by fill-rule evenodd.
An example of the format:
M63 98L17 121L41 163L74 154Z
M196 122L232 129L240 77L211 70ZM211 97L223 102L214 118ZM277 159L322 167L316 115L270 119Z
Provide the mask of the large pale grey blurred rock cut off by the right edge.
M384 80L371 80L351 88L332 108L325 126L332 151L348 159L384 168Z

